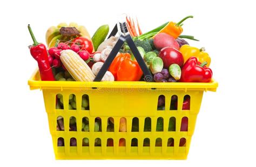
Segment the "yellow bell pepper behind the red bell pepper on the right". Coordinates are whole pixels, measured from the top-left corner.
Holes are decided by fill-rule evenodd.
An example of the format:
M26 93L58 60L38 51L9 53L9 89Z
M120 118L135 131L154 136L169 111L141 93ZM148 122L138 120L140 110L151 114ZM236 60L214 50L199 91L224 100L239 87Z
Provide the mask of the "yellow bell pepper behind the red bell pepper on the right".
M196 57L200 62L207 62L206 67L209 67L211 64L211 58L208 53L205 52L205 48L202 47L200 50L197 47L192 47L190 45L183 45L180 47L179 51L182 53L184 58L184 63L187 59L191 57Z

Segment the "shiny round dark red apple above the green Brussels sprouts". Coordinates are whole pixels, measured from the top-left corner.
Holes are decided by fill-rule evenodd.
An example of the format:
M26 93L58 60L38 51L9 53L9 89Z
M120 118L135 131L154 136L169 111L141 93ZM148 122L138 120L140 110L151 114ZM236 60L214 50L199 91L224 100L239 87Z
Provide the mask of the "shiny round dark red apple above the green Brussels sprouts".
M159 52L159 57L164 61L164 68L169 68L172 64L183 65L183 55L176 48L164 47Z

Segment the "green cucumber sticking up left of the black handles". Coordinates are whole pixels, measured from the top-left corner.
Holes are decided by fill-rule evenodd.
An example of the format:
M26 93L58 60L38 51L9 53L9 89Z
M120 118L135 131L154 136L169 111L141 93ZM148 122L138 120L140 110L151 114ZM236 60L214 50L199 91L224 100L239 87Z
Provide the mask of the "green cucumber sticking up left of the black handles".
M109 25L102 25L98 28L98 30L92 36L92 44L97 51L97 48L103 41L105 40L107 34L109 33Z

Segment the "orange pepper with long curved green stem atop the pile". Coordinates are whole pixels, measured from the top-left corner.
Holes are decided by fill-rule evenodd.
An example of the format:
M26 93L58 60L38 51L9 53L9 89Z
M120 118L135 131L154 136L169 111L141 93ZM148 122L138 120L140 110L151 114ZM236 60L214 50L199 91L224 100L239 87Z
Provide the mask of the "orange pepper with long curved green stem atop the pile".
M178 38L179 35L183 32L183 28L181 27L181 23L184 22L188 18L193 18L193 16L187 16L184 19L180 20L179 23L169 22L163 29L161 29L158 33L167 33L173 38Z

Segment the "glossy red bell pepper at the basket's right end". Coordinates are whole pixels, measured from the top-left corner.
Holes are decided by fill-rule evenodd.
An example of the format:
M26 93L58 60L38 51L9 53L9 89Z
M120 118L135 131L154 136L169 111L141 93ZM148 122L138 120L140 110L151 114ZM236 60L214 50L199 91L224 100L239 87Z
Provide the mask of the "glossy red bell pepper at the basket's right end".
M181 69L180 82L210 82L212 79L212 70L205 65L207 62L200 62L196 57L188 59Z

